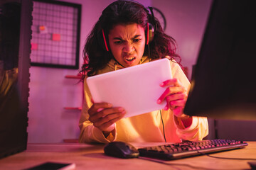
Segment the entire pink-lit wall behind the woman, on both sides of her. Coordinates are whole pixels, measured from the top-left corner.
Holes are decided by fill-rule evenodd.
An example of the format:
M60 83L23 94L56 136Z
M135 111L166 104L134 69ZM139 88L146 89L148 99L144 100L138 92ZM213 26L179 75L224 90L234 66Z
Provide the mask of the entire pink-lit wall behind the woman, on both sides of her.
M68 0L65 0L68 1ZM102 10L113 0L70 0L82 4L80 63L82 48ZM166 33L178 43L182 64L191 67L201 44L211 0L141 0L144 6L161 9L167 19ZM80 111L67 111L66 106L82 104L82 84L78 79L65 79L76 75L78 70L31 67L31 82L28 112L28 142L63 142L63 139L78 138Z

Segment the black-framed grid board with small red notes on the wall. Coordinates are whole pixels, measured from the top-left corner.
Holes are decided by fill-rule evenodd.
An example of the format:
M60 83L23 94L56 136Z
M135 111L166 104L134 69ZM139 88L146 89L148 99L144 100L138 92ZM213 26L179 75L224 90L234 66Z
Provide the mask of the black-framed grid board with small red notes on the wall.
M31 65L78 69L81 5L33 0Z

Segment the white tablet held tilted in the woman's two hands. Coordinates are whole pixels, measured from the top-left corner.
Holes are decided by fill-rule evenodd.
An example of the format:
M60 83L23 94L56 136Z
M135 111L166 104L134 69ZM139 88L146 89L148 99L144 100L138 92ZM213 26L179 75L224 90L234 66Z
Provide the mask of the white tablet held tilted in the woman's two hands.
M171 79L169 62L161 59L88 77L93 101L123 107L127 111L124 118L164 108L166 101L161 104L156 101L166 90L159 84Z

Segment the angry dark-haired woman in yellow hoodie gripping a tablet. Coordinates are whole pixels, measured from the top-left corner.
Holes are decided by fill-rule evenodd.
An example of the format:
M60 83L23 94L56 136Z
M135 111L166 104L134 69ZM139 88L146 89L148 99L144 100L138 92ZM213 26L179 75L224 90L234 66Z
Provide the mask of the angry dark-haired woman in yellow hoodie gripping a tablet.
M151 11L152 13L152 11ZM115 1L102 11L87 38L84 48L86 64L82 72L85 103L80 117L80 142L181 142L202 140L208 135L206 118L183 114L189 81L174 58L176 43L166 35L159 21L141 4L134 1ZM125 67L167 57L174 79L164 81L164 94L157 103L167 105L131 118L123 118L125 108L112 107L111 103L94 103L86 78L112 72Z

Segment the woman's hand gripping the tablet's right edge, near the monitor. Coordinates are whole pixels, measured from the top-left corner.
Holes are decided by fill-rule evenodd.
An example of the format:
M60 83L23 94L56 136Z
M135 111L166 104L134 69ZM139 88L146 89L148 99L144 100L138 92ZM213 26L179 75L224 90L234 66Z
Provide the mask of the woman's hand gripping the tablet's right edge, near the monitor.
M183 114L183 108L187 100L186 89L181 85L177 79L169 79L160 84L161 87L166 87L164 94L160 96L157 103L166 100L164 110L171 109L177 118L184 118L187 115Z

